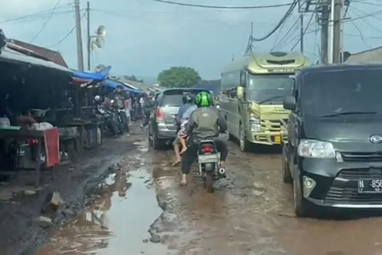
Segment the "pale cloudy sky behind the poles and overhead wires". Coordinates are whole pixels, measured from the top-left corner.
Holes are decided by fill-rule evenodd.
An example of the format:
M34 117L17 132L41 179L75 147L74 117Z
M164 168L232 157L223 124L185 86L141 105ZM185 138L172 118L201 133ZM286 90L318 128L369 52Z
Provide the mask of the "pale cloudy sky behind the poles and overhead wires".
M291 0L174 0L179 3L204 5L250 6L290 3ZM31 42L59 50L70 67L77 68L75 31L57 44L74 25L74 0L61 0L49 19L57 0L0 0L0 28L9 38ZM352 0L348 17L364 17L345 22L344 46L359 52L382 44L382 1ZM90 0L91 31L103 24L107 29L105 46L95 49L92 65L112 65L115 74L156 77L171 66L190 66L205 79L218 79L222 67L232 56L240 56L247 45L251 22L254 37L261 37L275 27L287 7L245 10L216 10L182 7L152 0ZM81 0L81 14L86 1ZM375 13L381 11L380 14ZM44 12L46 11L46 12ZM37 15L31 15L36 14ZM367 14L373 14L367 16ZM25 15L31 15L25 17ZM366 16L366 17L365 17ZM295 27L285 36L298 18L295 10L283 28L270 38L255 43L255 50L269 51L276 40L276 49L290 50L298 39ZM310 14L305 17L308 23ZM320 33L313 20L305 37L306 54L317 59ZM86 57L86 18L82 19L84 57ZM296 47L296 50L299 46ZM86 59L84 61L86 63Z

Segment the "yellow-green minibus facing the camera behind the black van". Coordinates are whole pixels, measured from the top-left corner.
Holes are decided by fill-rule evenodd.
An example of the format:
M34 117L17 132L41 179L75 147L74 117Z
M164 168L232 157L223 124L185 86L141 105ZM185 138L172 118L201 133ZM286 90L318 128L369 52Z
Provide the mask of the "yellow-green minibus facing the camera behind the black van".
M271 52L245 55L224 68L219 104L242 151L281 144L289 114L283 99L292 93L295 72L307 65L302 54Z

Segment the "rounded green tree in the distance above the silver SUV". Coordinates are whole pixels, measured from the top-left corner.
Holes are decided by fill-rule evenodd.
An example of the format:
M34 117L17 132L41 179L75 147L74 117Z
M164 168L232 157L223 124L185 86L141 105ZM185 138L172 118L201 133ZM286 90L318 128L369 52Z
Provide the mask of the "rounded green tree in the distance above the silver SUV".
M190 67L171 67L163 70L158 75L160 86L168 88L190 88L197 85L202 79L199 73Z

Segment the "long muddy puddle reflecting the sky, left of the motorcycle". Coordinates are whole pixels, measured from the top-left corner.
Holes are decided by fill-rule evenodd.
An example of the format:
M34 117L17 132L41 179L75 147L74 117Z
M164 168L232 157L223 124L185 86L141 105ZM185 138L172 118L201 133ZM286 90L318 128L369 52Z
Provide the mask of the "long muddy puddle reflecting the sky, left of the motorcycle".
M138 155L127 157L122 168L104 181L94 205L54 233L36 254L172 254L166 245L150 241L150 224L162 210L149 164Z

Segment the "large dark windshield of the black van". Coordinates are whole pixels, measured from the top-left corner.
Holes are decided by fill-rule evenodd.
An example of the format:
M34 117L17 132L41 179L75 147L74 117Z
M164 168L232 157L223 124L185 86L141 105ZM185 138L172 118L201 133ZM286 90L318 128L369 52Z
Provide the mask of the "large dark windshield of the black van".
M382 70L346 69L308 73L301 88L308 115L382 112Z

